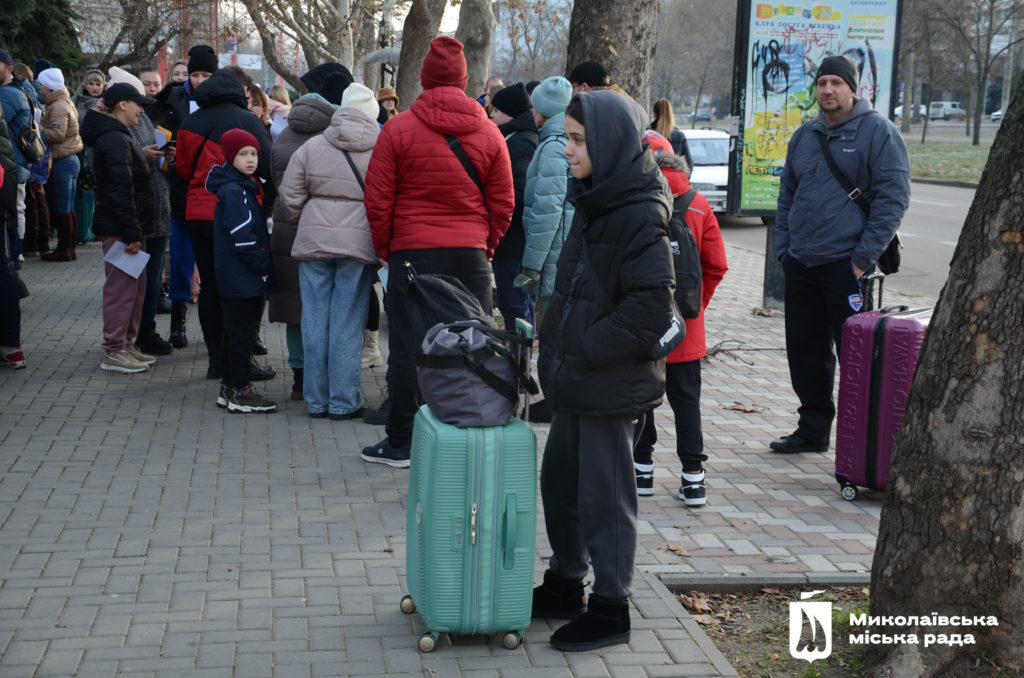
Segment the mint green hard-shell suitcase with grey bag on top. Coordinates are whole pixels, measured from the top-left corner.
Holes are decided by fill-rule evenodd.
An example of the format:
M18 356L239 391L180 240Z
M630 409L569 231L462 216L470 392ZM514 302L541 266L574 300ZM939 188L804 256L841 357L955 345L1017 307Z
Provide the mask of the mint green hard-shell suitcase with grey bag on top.
M529 626L537 542L537 436L505 426L457 428L427 406L413 427L406 579L408 613L440 634L504 633L514 648Z

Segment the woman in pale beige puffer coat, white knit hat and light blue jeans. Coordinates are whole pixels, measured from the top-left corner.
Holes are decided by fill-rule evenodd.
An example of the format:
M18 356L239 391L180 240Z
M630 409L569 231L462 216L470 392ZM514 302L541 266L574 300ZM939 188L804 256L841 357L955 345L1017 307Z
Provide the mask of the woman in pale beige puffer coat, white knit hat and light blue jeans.
M380 126L377 100L345 89L324 134L306 141L279 186L302 293L303 397L310 417L353 419L362 411L362 328L377 264L362 205L364 179Z

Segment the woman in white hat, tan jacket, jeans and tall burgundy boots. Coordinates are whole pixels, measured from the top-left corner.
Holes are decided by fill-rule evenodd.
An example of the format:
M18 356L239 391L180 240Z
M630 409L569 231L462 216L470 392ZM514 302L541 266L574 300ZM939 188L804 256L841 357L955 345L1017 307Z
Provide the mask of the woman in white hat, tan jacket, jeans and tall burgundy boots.
M82 152L82 137L78 135L78 111L71 101L65 86L60 69L46 69L36 78L46 102L43 115L43 134L50 146L53 167L46 182L46 193L56 194L51 205L56 212L50 221L57 231L57 247L52 252L40 256L45 261L70 261L77 258L75 243L78 232L78 218L75 216L75 190L78 188L78 172L82 165L78 154Z

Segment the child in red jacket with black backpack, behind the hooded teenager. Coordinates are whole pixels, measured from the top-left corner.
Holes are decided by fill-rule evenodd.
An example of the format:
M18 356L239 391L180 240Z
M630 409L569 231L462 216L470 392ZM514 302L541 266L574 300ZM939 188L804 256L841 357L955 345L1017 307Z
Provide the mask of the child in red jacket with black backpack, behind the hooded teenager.
M690 168L683 157L673 153L671 142L653 130L644 132L642 141L654 154L654 160L672 189L673 199L688 192L690 180L687 175ZM703 462L708 461L708 455L703 453L703 434L700 430L700 359L708 354L705 344L705 309L718 284L725 277L728 264L718 219L703 196L693 196L685 219L700 251L701 307L699 315L686 321L686 338L666 359L666 396L675 414L676 454L683 464L677 496L686 506L695 507L707 503ZM654 494L654 463L651 454L656 441L654 417L649 413L633 451L637 494L641 497Z

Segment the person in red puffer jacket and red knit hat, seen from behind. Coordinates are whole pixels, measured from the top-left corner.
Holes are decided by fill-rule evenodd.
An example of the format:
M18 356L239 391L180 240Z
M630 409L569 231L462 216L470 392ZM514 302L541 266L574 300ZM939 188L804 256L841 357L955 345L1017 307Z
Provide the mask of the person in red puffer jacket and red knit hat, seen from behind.
M364 201L374 249L391 276L385 300L390 330L387 437L364 449L362 458L398 468L409 466L417 393L414 356L423 340L415 336L407 310L404 263L421 274L458 278L489 313L487 259L515 207L505 138L466 95L462 43L447 37L431 40L420 82L424 92L381 130ZM445 135L462 144L479 186Z

